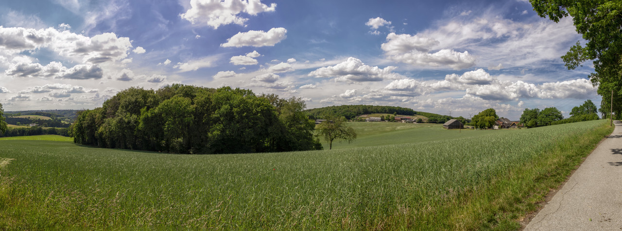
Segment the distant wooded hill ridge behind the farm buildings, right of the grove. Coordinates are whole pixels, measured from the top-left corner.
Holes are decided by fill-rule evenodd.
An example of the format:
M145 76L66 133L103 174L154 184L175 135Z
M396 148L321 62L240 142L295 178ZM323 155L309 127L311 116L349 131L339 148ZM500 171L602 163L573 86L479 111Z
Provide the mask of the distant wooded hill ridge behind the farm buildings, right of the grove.
M307 112L312 119L326 119L323 115L343 116L348 120L354 119L356 116L363 114L385 113L385 114L400 114L407 116L414 116L415 111L406 107L395 106L372 106L372 105L341 105L341 106L329 106L320 107L314 109L308 109Z

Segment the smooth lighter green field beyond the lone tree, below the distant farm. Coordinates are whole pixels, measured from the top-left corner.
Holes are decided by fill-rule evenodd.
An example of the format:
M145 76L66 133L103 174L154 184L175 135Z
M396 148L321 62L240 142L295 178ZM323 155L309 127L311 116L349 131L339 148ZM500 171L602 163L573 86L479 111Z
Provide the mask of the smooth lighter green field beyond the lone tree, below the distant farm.
M502 134L508 130L447 130L442 124L411 124L397 122L348 122L355 129L357 138L352 143L333 141L333 149L375 147L400 143L419 143L452 138L480 137L481 135ZM328 149L328 142L322 145Z

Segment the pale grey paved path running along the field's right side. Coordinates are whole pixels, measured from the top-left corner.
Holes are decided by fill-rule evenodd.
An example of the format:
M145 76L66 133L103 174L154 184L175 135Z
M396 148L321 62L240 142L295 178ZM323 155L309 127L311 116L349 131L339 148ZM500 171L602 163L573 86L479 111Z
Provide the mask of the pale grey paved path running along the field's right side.
M524 230L622 231L622 122Z

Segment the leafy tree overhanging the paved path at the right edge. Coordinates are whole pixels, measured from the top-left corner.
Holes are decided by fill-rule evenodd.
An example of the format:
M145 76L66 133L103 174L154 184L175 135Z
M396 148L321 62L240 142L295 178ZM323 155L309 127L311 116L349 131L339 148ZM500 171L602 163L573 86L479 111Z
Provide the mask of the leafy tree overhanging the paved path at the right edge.
M572 17L577 32L587 41L577 42L562 56L569 70L593 60L595 73L589 75L603 97L599 111L622 115L622 2L620 0L530 0L540 17L559 22Z

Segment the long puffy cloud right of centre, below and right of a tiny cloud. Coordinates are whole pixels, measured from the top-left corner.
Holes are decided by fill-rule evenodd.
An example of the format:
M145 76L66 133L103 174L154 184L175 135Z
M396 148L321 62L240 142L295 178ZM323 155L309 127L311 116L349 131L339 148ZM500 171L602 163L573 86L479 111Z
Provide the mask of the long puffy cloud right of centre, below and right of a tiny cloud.
M429 53L432 47L439 45L439 41L434 38L391 33L387 35L386 40L387 42L383 43L381 48L389 60L417 66L448 66L454 70L475 65L475 57L466 51L461 53L442 49Z

